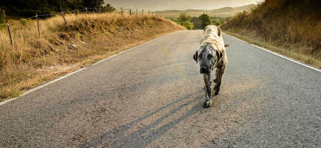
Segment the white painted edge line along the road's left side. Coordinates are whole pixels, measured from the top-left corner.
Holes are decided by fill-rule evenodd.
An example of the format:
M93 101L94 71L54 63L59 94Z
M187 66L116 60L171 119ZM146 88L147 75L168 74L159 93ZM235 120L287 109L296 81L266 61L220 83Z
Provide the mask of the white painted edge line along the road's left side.
M179 30L178 30L178 31L179 31ZM177 31L175 31L175 32L177 32ZM174 32L171 32L171 33L174 33ZM166 35L169 35L169 34L171 34L171 33L168 33L168 34L166 34ZM166 36L166 35L163 35L163 36L161 36L161 37L164 37L164 36ZM150 41L148 41L148 42L151 42L151 41L156 40L156 39L161 38L161 37L157 37L157 38L152 39L152 40L150 40ZM106 59L100 60L100 61L98 61L98 62L96 62L96 63L93 63L93 64L91 64L91 65L89 65L89 66L92 66L92 65L95 65L95 64L97 64L97 63L103 62L103 61L105 61L105 60L107 60L107 59L110 59L110 58L112 58L112 57L114 57L114 56L116 56L116 55L118 55L118 54L121 54L121 53L124 53L124 52L126 52L126 51L132 50L132 49L134 49L134 48L136 48L136 47L138 47L138 46L144 45L144 44L146 44L146 43L148 43L148 42L145 42L145 43L143 43L143 44L137 45L137 46L135 46L135 47L133 47L133 48L130 48L130 49L127 49L127 50L125 50L125 51L123 51L123 52L117 53L117 54L115 54L115 55L113 55L113 56L110 56L110 57L108 57L108 58L106 58ZM74 74L74 73L76 73L76 72L79 72L79 71L81 71L81 70L84 70L84 69L88 68L89 66L84 67L84 68L81 68L81 69L76 70L76 71L74 71L74 72L71 72L71 73L69 73L69 74L67 74L67 75L58 77L58 78L56 78L56 79L54 79L54 80L52 80L52 81L50 81L50 82L47 82L47 83L42 84L42 85L40 85L40 86L37 86L37 87L35 87L35 88L32 88L32 89L24 92L23 94L21 94L21 95L19 95L19 96L17 96L17 97L14 97L14 98L11 98L11 99L8 99L8 100L4 100L4 101L0 102L0 106L3 105L3 104L5 104L5 103L11 102L11 101L13 101L13 100L15 100L15 99L17 99L17 98L19 98L19 97L22 97L22 96L24 96L24 95L27 95L27 94L29 94L29 93L31 93L31 92L39 89L39 88L42 88L42 87L47 86L47 85L49 85L49 84L51 84L51 83L54 83L54 82L57 82L57 81L59 81L59 80L61 80L61 79L63 79L63 78L66 78L66 77L68 77L68 76L70 76L70 75L72 75L72 74Z

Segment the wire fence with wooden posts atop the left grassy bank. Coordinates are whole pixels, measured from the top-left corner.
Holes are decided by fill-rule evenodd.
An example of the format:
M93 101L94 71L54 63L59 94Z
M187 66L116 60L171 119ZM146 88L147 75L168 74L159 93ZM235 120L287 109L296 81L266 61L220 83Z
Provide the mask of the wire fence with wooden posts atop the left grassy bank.
M39 31L39 16L53 16L53 15L58 15L58 14L61 14L62 17L64 18L64 21L65 23L67 24L66 20L65 20L65 16L64 16L64 13L71 13L71 12L85 12L86 14L89 13L89 10L93 11L93 12L109 12L109 13L112 13L112 12L117 12L117 13L121 13L121 14L124 14L124 13L127 13L129 15L136 15L136 16L143 16L143 15L151 15L151 16L160 16L161 15L158 13L156 14L153 14L153 12L150 12L150 10L148 11L138 11L138 9L128 9L128 8L114 8L112 9L111 7L109 9L97 9L97 8L84 8L84 9L80 9L80 10L74 10L74 11L66 11L66 12L60 12L60 13L54 13L54 14L41 14L41 15L38 15L37 12L36 12L36 15L35 16L32 16L30 18L27 18L27 19L23 19L23 20L20 20L20 21L16 21L16 22L12 22L12 23L8 23L8 20L6 20L6 24L0 24L0 26L4 26L6 25L8 27L8 33L9 33L9 37L10 37L10 42L11 42L11 45L13 45L13 39L12 39L12 36L11 36L11 31L10 31L10 25L11 24L14 24L14 23L18 23L18 22L22 22L22 21L25 21L25 20L28 20L28 19L32 19L32 18L37 18L37 24L38 24L38 33L39 33L39 37L40 37L40 31ZM120 10L120 11L119 11ZM133 11L132 11L133 10ZM76 14L76 13L75 13ZM165 17L165 16L164 16Z

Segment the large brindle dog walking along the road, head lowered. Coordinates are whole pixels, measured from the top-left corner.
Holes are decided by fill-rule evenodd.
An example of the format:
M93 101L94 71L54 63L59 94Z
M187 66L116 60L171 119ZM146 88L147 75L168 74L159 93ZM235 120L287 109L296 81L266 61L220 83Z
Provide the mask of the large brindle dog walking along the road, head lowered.
M205 101L203 106L210 107L212 105L212 83L215 84L214 94L218 95L227 63L225 45L219 27L213 25L205 27L201 45L197 48L193 58L196 63L200 63L200 72L204 77ZM214 68L217 68L216 77L211 81L211 72Z

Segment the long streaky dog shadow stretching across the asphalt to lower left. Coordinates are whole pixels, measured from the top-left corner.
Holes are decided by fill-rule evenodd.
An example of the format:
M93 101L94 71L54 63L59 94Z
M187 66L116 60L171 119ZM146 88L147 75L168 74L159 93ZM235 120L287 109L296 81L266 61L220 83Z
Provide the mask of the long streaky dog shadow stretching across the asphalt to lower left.
M136 131L132 134L126 135L126 136L124 135L124 133L127 131L127 129L132 128L137 123L143 121L144 119L146 119L146 118L148 118L148 117L150 117L150 116L152 116L152 115L154 115L154 114L156 114L156 113L158 113L158 112L160 112L170 106L176 105L180 101L184 101L188 98L189 99L194 98L194 99L192 99L182 105L177 106L176 108L169 111L167 114L165 114L162 117L160 117L159 119L153 121L149 125L142 127L138 131ZM138 118L128 124L125 124L121 127L114 128L113 130L106 132L105 134L101 135L100 137L97 137L97 138L95 138L95 139L91 140L90 142L87 142L83 145L80 145L80 147L96 147L98 145L102 145L103 147L107 147L107 146L111 146L111 147L119 147L120 146L121 147L124 145L127 145L127 146L130 145L130 147L141 147L141 146L143 146L143 144L149 144L149 143L153 142L155 139L157 139L159 136L164 134L167 130L174 127L180 121L187 119L188 117L190 117L200 111L205 110L206 108L201 107L202 105L200 103L200 101L203 101L203 99L204 99L204 89L200 89L192 94L189 94L189 95L184 96L178 100L175 100L175 101L163 106L162 108L157 109L156 111L153 111L152 113L149 113L143 117L140 117L140 118ZM199 102L197 102L197 101L199 101ZM151 129L156 127L158 124L160 124L163 120L165 120L169 116L172 116L177 111L181 110L182 108L184 108L187 105L190 105L192 103L196 103L196 104L192 107L192 109L190 109L189 111L184 113L182 116L178 117L175 120L170 121L169 123L157 128L157 129L150 131Z

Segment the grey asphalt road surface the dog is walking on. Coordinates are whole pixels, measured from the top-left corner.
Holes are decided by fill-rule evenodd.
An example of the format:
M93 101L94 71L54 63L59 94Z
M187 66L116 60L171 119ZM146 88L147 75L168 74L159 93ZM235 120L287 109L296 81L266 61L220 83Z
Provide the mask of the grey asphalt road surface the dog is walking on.
M204 108L178 31L0 106L0 147L321 147L321 72L223 34L228 64Z

